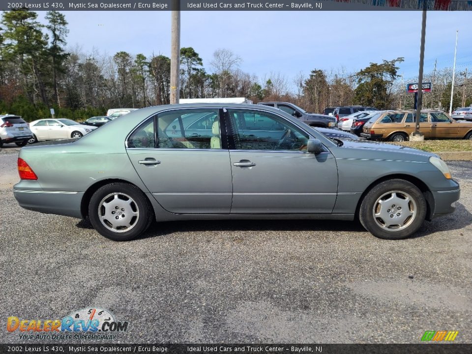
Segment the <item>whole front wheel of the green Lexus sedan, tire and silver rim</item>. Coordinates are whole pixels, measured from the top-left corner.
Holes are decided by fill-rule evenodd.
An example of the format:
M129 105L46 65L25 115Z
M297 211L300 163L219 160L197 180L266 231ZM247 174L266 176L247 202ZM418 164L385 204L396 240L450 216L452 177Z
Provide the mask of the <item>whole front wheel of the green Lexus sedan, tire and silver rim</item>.
M364 197L359 221L376 237L402 239L420 228L426 217L426 208L423 194L413 183L390 179L375 185Z

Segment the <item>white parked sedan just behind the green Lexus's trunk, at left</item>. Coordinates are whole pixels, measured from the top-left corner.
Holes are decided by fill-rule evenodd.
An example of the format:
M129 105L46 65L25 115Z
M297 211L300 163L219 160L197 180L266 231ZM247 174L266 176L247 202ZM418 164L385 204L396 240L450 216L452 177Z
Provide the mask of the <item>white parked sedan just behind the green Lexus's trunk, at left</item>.
M82 138L96 128L66 118L38 119L29 123L33 137L28 142L32 144L45 140Z

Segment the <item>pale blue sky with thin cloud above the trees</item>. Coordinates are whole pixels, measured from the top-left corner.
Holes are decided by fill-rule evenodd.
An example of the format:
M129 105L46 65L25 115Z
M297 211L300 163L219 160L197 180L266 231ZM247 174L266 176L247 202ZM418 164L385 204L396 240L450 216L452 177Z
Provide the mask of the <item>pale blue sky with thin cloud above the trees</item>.
M39 14L44 21L44 12ZM170 11L66 11L68 45L113 56L118 51L170 57ZM428 11L425 73L452 66L456 30L457 71L472 68L471 12ZM289 82L300 71L355 72L382 59L404 57L399 73L417 77L421 11L182 11L181 47L193 47L207 71L213 52L227 48L240 68L263 78L280 72ZM472 76L472 73L471 73Z

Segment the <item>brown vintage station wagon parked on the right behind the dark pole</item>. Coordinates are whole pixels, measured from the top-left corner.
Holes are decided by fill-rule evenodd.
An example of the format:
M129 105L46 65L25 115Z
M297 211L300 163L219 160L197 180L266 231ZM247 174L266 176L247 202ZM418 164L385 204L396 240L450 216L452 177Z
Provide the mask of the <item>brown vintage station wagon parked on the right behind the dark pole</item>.
M414 132L414 111L389 111L365 123L361 137L369 140L409 140ZM456 121L441 111L422 111L419 131L425 138L459 138L472 140L472 122Z

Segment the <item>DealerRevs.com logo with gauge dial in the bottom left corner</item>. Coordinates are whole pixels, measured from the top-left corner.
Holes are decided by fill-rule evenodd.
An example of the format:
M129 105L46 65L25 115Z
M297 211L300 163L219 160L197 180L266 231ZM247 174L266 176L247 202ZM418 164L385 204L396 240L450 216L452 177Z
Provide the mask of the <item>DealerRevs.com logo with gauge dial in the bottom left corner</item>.
M87 308L74 311L62 319L29 320L10 316L6 330L19 334L20 339L106 339L117 332L126 332L129 323L119 322L107 310Z

